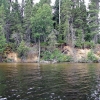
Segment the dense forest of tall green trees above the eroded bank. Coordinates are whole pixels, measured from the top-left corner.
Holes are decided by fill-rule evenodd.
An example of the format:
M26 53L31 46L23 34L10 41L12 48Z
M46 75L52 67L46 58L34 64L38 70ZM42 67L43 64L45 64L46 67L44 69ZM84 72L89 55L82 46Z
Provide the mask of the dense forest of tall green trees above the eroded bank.
M86 7L84 0L56 0L54 6L50 0L0 0L0 57L8 46L20 57L32 44L50 52L59 44L92 48L100 43L99 2L90 0Z

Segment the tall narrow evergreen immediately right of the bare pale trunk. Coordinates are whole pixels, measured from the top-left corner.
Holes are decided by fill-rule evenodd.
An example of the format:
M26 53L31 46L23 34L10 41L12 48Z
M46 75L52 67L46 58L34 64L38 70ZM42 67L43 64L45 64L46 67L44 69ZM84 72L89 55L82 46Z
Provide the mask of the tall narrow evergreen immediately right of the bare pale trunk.
M62 0L61 3L61 27L60 37L67 44L69 44L70 38L70 17L71 17L71 4L70 0Z

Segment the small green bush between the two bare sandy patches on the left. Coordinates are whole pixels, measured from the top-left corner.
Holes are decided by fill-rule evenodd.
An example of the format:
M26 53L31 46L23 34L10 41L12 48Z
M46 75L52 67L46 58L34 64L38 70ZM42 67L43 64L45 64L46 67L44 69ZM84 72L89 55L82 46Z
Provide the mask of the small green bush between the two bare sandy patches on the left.
M19 57L26 57L29 48L25 45L24 41L21 41L19 47L17 48L18 56Z

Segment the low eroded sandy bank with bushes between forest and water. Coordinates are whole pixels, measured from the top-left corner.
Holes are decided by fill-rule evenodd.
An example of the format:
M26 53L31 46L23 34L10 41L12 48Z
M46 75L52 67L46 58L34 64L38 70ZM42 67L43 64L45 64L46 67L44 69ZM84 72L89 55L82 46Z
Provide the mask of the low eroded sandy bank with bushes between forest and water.
M3 62L21 62L21 63L38 63L39 52L38 45L31 47L26 56L19 57L18 53L8 51ZM7 51L6 51L7 53ZM99 63L100 62L100 45L96 45L94 49L89 48L72 48L63 46L59 48L41 47L40 63L59 63L59 62L75 62L75 63Z

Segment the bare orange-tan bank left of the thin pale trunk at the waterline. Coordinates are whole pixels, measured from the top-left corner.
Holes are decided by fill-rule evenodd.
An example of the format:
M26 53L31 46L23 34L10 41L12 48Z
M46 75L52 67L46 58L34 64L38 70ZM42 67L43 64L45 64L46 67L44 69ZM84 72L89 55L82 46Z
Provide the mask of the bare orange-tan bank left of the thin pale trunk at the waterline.
M27 57L18 57L18 53L10 52L7 54L7 62L38 62L38 46L29 46Z

